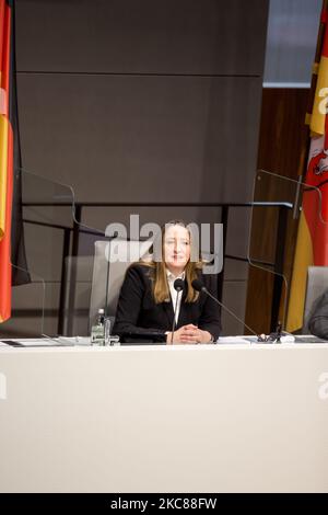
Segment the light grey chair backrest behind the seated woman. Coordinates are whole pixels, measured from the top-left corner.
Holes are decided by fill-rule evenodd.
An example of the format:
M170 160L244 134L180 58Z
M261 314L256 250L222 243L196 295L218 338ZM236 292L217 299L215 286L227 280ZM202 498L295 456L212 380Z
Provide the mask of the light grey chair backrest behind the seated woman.
M105 308L106 297L107 314L114 320L126 271L131 263L139 261L141 258L143 260L149 259L151 244L151 240L127 241L118 238L110 242L95 241L89 313L90 324L95 319L98 309Z

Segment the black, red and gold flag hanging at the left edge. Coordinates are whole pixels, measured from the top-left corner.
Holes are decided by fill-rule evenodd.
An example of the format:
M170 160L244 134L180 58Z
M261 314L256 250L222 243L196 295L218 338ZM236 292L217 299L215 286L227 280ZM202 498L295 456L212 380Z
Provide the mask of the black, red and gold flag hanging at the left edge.
M14 65L14 3L13 0L0 0L0 322L11 316L13 275L16 276L14 284L30 282L28 273L25 272L22 232L21 151ZM12 263L17 265L16 268L12 268ZM23 276L12 274L12 270L24 271Z

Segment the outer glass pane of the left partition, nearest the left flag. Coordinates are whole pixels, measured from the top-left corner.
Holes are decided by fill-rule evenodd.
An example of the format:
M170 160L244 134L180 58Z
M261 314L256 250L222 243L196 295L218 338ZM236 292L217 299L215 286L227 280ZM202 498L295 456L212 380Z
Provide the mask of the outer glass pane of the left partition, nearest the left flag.
M63 311L61 266L69 255L69 233L74 203L70 186L36 173L17 170L22 184L22 216L27 271L19 256L12 262L12 316L1 324L1 333L12 337L58 335L58 314ZM26 284L25 281L30 282Z

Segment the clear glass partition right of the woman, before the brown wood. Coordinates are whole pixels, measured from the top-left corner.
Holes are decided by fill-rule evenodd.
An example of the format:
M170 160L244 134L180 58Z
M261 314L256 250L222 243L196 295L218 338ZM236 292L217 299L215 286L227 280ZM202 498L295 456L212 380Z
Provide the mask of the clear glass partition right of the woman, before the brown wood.
M311 206L313 227L326 225L320 191L302 182L259 170L255 178L254 204L249 233L248 259L258 278L257 290L262 296L262 319L270 313L270 330L286 324L291 289L294 242L302 209ZM307 215L308 215L307 213ZM306 271L304 271L306 273ZM266 311L266 312L265 312Z

